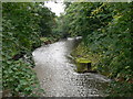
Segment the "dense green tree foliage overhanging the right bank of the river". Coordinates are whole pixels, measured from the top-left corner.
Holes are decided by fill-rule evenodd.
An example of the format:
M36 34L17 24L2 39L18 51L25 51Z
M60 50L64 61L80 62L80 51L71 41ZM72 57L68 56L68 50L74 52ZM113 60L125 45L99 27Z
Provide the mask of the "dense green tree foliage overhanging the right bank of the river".
M126 85L133 82L131 8L133 8L132 2L74 2L65 9L64 15L66 32L75 36L82 35L84 47L88 47L86 54L100 56L100 61L95 64L96 69L108 73L106 76L110 78L124 81ZM132 88L133 86L130 86L130 89ZM123 90L111 94L116 92L117 96L132 95L131 90L130 94L121 94L124 92Z

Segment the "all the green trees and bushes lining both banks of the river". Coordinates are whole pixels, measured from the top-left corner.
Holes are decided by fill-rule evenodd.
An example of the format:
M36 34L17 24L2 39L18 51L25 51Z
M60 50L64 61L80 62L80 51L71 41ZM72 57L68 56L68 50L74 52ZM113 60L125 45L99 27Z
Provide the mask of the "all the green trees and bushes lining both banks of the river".
M3 95L40 96L32 52L68 36L82 36L72 56L113 79L110 96L133 96L133 2L65 2L55 16L44 3L2 3Z

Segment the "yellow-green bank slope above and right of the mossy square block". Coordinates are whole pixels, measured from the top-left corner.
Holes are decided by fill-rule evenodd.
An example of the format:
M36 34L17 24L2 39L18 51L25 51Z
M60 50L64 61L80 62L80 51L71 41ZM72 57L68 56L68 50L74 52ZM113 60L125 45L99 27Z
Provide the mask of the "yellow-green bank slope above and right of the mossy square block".
M73 56L74 59L84 58L91 62L91 70L96 70L106 77L110 76L109 70L101 70L101 68L98 66L98 64L101 62L101 55L90 52L89 47L83 43L80 43L79 46L72 51L71 56Z

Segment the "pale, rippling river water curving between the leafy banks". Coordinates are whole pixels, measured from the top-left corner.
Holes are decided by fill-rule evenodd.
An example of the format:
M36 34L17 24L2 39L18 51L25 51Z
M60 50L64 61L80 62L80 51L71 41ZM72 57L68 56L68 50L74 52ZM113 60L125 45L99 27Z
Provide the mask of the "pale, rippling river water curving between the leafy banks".
M78 38L62 40L43 45L32 54L35 62L34 70L44 97L95 97L104 96L106 77L100 74L78 74L74 64L66 57L78 45Z

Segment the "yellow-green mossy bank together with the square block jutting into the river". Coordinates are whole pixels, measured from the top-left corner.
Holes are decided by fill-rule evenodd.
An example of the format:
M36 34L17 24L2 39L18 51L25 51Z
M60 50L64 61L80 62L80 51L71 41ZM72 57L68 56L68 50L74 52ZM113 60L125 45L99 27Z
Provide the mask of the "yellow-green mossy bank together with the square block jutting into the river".
M74 57L74 62L76 65L78 73L86 73L86 72L96 72L96 64L100 62L99 54L90 53L89 48L84 46L82 43L73 50L71 55ZM88 64L91 63L91 67L88 67Z

